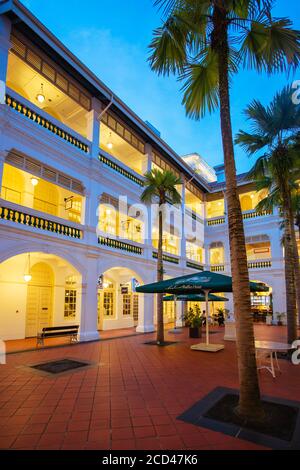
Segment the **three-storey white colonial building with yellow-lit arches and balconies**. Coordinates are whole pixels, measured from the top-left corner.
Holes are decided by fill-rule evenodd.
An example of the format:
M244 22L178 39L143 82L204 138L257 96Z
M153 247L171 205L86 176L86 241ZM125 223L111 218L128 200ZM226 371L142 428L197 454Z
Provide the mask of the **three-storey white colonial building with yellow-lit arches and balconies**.
M15 0L0 1L0 83L0 337L64 324L79 324L81 340L154 330L154 296L134 289L156 279L156 227L140 203L151 168L182 181L166 278L230 273L222 167L180 158ZM283 312L278 213L255 212L263 195L242 175L239 188L250 276L270 287L253 304Z

